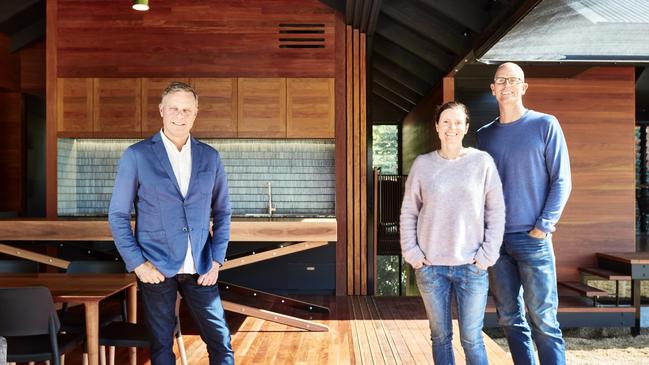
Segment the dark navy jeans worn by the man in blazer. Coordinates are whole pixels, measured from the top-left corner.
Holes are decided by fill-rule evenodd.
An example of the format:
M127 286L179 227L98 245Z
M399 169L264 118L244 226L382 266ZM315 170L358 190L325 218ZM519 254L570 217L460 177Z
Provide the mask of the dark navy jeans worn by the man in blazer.
M175 365L173 333L176 326L177 292L198 325L201 338L207 344L210 364L234 364L230 345L230 330L225 322L219 288L198 285L198 275L178 274L159 284L138 281L144 315L149 327L152 365Z

